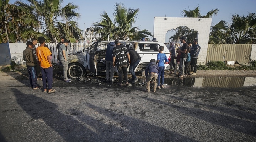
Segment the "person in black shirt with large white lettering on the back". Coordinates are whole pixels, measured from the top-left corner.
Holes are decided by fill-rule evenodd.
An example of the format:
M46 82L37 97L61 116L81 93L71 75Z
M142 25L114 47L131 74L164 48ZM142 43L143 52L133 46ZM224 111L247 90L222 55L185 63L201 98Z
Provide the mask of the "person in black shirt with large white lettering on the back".
M128 85L127 82L127 67L130 64L130 54L127 47L120 45L119 40L115 40L116 47L113 49L113 67L117 66L119 73L119 82L117 85L122 86L123 76L124 76L124 85Z

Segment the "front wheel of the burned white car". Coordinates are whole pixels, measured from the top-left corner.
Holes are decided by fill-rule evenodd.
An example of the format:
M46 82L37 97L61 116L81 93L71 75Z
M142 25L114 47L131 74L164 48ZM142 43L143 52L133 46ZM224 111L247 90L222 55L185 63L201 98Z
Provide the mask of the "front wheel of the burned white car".
M79 64L72 63L68 66L68 76L70 78L81 78L85 75L85 68Z

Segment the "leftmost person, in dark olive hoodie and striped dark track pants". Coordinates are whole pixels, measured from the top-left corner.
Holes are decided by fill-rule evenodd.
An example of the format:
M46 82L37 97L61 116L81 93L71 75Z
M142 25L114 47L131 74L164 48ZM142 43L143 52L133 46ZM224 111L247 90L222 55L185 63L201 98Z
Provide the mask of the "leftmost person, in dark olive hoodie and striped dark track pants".
M37 74L36 74L36 66L37 66L37 59L36 56L32 52L33 43L27 42L27 47L23 51L23 58L27 65L27 71L30 80L30 88L33 90L39 89L37 87Z

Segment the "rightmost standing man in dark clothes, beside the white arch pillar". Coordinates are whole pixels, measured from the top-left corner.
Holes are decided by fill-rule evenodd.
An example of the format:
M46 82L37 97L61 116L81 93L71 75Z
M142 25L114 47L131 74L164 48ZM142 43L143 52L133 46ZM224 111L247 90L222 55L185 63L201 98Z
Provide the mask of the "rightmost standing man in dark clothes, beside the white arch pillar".
M191 51L190 51L190 55L191 55L190 67L191 67L191 72L193 73L191 75L196 75L197 59L201 49L201 47L198 45L198 39L193 40L192 46L193 47L191 48Z

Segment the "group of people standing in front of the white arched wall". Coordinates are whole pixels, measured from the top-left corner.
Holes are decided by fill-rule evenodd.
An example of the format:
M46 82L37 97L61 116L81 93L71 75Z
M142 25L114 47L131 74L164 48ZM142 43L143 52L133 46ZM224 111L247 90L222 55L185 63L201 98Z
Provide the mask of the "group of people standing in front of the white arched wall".
M182 78L184 75L196 75L197 71L197 59L200 53L201 47L198 44L198 39L194 39L192 44L191 42L186 42L185 37L180 38L180 42L183 43L182 47L177 49L175 54L174 44L172 42L169 46L170 51L170 73L178 72L178 77ZM174 59L176 59L176 63L174 63Z

